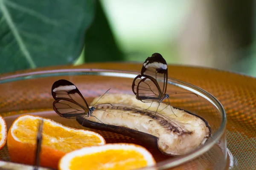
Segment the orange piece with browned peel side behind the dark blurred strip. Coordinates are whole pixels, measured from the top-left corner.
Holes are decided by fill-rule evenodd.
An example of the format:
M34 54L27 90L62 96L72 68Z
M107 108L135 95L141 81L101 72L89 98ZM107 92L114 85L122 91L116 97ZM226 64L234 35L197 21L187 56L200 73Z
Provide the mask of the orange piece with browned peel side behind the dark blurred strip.
M8 132L7 146L12 161L34 164L40 119L44 119L41 166L56 169L59 159L66 153L82 147L105 144L105 139L98 133L67 127L40 116L22 115L13 122Z

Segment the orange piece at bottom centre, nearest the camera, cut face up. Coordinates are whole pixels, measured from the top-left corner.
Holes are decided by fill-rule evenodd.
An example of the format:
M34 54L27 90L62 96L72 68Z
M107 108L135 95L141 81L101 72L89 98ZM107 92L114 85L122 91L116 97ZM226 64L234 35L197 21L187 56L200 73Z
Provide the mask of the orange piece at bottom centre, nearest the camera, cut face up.
M63 156L59 170L131 170L155 164L148 150L136 144L84 147Z

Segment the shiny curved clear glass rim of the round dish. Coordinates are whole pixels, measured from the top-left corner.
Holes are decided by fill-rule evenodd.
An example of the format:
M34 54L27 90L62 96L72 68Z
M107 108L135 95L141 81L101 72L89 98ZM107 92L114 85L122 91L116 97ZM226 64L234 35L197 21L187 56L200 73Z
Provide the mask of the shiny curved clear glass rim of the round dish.
M0 77L0 84L19 81L19 80L36 79L36 78L42 78L42 77L55 77L55 76L98 75L98 76L110 76L110 77L122 77L122 78L135 78L138 74L140 73L133 72L133 71L107 70L107 69L90 69L90 68L53 69L53 70L47 70L47 71L31 71L27 73L20 73L20 74L16 73L16 74L7 75L4 77ZM216 142L218 142L218 140L224 134L226 123L227 123L227 117L226 117L226 113L223 106L214 96L209 94L207 91L204 91L203 89L198 88L195 85L192 85L187 82L183 82L181 80L174 79L174 78L168 78L168 83L171 85L175 85L177 87L186 89L188 91L191 91L195 94L198 94L198 96L201 96L204 99L207 99L221 113L222 121L218 130L209 140L207 140L207 142L204 145L202 145L201 147L198 147L191 153L188 153L184 156L172 158L171 160L167 159L165 161L160 161L159 163L156 164L157 168L159 169L178 166L180 164L191 161L197 158L198 156L201 156L202 154L206 153L209 149L213 147L213 145ZM153 167L154 166L152 166L152 168ZM141 170L147 169L147 168L150 168L150 167L141 168Z

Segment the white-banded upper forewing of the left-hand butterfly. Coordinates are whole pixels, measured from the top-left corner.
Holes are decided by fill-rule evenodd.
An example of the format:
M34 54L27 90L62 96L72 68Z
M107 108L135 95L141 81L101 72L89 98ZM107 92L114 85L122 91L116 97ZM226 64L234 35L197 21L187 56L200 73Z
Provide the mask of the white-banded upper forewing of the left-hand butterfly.
M86 108L89 108L78 88L72 82L65 79L60 79L52 85L52 97L55 100L61 98L71 99L79 103L79 105L84 105Z

